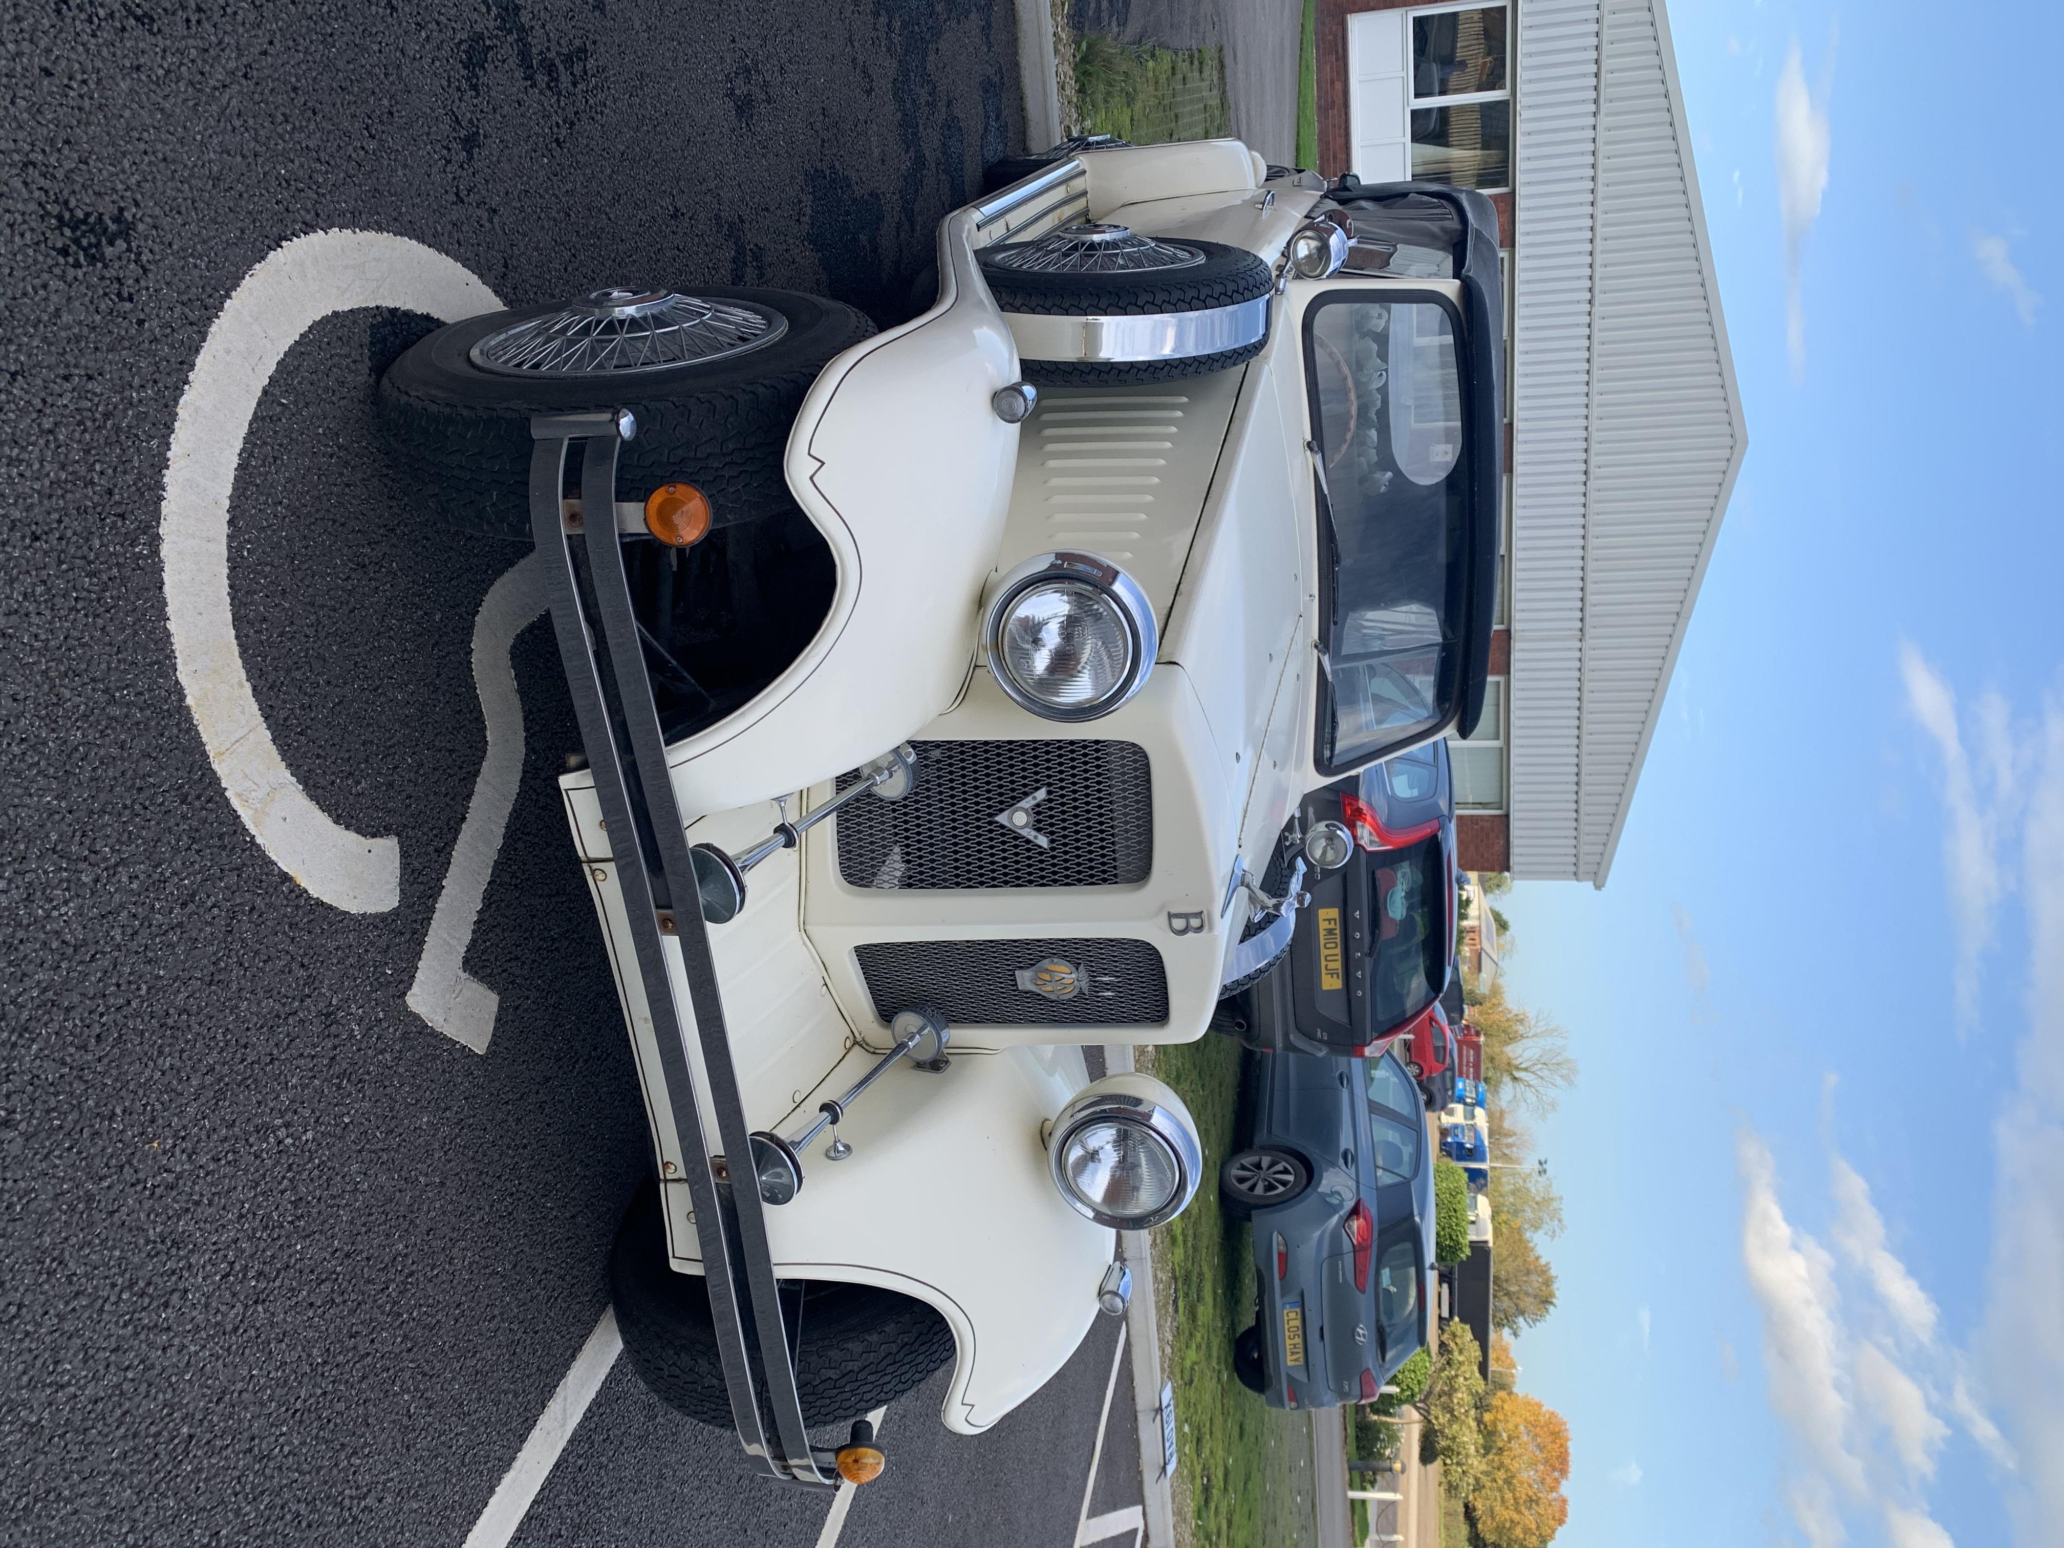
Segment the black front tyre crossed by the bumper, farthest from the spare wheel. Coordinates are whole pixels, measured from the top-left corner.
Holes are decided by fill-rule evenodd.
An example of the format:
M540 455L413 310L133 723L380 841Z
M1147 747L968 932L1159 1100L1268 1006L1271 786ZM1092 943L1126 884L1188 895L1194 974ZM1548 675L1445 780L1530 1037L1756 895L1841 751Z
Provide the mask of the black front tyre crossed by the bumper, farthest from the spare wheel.
M700 1273L667 1263L658 1183L646 1181L623 1214L609 1292L623 1352L644 1385L691 1420L729 1430L710 1294ZM795 1362L807 1424L846 1424L918 1387L949 1358L954 1331L923 1300L869 1284L807 1282Z

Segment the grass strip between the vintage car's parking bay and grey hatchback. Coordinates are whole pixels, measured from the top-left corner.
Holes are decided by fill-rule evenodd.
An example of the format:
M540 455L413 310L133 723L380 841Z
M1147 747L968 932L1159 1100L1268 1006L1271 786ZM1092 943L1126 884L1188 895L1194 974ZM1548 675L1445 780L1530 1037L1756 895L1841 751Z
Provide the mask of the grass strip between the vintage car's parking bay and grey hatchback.
M1154 1073L1189 1102L1203 1139L1203 1187L1156 1236L1156 1280L1168 1288L1166 1366L1181 1426L1176 1542L1311 1544L1311 1420L1267 1408L1232 1375L1232 1335L1255 1319L1249 1232L1218 1205L1218 1164L1234 1148L1240 1049L1218 1034L1160 1046Z

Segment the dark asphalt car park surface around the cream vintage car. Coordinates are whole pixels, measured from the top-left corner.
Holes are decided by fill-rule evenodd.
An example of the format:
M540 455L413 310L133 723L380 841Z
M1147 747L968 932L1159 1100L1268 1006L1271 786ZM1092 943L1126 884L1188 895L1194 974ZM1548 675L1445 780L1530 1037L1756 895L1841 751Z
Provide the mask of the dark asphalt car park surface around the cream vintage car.
M394 297L704 279L896 320L1020 149L1013 39L1007 0L10 8L0 1542L477 1529L607 1307L648 1148L543 623L452 947L491 1038L409 1007L489 745L475 621L520 549L440 530L384 458L372 386L431 326ZM281 258L322 231L374 235ZM237 780L326 813L320 865L254 836ZM894 1406L840 1542L1073 1544L1115 1340L980 1441L935 1389ZM1131 1445L1098 1511L1137 1501ZM826 1509L617 1362L514 1542L807 1548Z

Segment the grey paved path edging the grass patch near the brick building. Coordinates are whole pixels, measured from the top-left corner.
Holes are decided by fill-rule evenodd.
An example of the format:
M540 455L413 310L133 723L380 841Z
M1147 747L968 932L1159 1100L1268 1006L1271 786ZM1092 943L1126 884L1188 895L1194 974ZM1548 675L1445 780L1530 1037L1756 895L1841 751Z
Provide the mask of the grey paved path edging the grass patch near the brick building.
M1127 43L1224 45L1234 136L1296 165L1300 0L1073 0L1069 17L1077 33Z

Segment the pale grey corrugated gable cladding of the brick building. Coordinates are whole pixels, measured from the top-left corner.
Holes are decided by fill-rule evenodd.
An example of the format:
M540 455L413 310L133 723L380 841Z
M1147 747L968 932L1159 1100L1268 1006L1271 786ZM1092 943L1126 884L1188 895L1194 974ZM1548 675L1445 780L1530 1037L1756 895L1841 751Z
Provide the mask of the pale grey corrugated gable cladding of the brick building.
M1662 0L1521 0L1515 875L1604 885L1748 436Z

